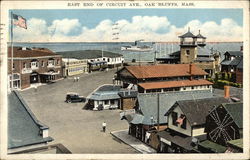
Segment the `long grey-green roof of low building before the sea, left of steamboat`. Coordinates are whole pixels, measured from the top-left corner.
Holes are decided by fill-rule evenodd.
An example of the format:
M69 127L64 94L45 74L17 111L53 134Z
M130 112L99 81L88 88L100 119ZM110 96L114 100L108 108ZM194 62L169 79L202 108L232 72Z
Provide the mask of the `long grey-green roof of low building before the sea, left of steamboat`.
M57 52L58 54L62 55L63 58L76 58L76 59L94 59L94 58L101 58L102 51L101 50L80 50L80 51L65 51L65 52ZM122 54L113 53L103 51L103 57L121 57Z

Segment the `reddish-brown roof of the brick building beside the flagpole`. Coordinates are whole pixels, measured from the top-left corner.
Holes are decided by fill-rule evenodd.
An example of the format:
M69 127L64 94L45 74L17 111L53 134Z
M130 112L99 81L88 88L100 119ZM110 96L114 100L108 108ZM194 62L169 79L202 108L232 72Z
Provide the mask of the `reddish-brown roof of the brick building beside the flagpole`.
M44 57L44 56L56 56L56 54L47 48L28 48L22 50L22 47L13 48L14 58L29 58L29 57ZM11 57L11 47L8 48L8 57Z

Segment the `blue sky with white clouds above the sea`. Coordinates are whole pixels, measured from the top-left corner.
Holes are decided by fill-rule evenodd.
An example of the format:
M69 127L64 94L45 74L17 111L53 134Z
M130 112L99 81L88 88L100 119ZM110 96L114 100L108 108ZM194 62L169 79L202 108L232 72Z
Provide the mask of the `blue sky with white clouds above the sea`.
M15 42L178 41L201 31L207 41L242 41L241 9L13 10L28 29L14 27ZM118 33L118 34L117 34Z

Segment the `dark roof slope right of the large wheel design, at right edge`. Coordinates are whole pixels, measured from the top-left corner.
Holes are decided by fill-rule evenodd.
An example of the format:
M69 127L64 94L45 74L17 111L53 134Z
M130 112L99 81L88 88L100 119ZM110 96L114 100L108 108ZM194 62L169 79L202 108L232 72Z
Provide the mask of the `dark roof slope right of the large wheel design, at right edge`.
M243 103L224 103L223 107L231 115L239 128L243 128Z

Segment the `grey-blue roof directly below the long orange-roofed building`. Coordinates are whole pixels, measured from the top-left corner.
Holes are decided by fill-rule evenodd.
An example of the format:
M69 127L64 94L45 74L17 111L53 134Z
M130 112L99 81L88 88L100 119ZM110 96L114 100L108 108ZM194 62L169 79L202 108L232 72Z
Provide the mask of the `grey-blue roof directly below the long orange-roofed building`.
M159 93L159 105L160 105L160 123L167 123L164 114L170 109L171 106L178 100L190 100L190 99L201 99L212 97L210 91L178 91L178 92L165 92ZM154 120L157 120L157 94L156 93L146 93L138 94L137 96L139 110L142 113L143 120L141 123L151 125L151 116Z

